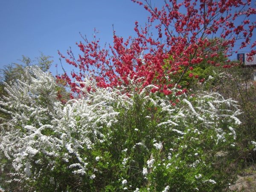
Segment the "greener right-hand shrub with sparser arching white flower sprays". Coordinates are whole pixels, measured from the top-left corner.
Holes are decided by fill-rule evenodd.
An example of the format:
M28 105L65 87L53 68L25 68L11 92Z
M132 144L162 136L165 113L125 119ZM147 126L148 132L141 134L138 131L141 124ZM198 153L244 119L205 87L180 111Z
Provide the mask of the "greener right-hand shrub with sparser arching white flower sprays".
M174 98L157 96L150 89L133 95L133 108L120 112L126 120L115 125L126 127L120 145L129 158L122 175L126 187L134 191L223 189L233 178L229 169L241 123L237 103L218 93L203 93L178 96L179 105L173 106L169 101Z

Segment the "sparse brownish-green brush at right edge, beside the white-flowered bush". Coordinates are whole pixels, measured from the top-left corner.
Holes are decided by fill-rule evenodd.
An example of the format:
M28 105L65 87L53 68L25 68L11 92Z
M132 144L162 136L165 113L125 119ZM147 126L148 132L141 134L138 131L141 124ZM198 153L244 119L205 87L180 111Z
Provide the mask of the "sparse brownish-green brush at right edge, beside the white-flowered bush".
M245 164L254 162L256 153L250 143L256 141L256 84L253 80L255 69L234 66L230 69L218 68L215 71L214 78L206 82L206 88L238 101L243 112L239 115L242 122L238 129L239 156Z

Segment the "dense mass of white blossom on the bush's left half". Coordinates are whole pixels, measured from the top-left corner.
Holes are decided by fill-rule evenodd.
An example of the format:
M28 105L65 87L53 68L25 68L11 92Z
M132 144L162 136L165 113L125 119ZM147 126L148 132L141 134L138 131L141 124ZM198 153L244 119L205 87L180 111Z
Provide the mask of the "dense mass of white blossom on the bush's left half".
M118 115L111 104L125 105L128 97L110 89L96 88L91 93L84 89L81 91L86 94L80 99L62 104L50 73L27 67L25 76L6 84L8 96L0 100L0 110L11 116L2 119L0 153L12 161L24 180L32 171L39 176L42 169L54 170L56 160L65 162L75 175L87 174L89 162L84 151L108 139L101 130L115 123ZM93 86L92 81L86 82Z

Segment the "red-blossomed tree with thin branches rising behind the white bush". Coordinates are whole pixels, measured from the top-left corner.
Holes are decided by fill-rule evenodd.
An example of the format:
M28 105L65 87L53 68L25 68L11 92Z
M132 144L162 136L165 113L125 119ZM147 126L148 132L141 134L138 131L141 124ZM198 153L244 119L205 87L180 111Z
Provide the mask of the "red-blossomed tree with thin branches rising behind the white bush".
M132 1L151 14L145 27L135 22L136 37L124 40L114 32L113 45L108 48L100 47L96 38L91 42L84 38L84 42L77 43L82 52L78 58L71 50L68 56L60 53L78 69L71 76L58 76L72 91L79 92L77 87L84 84L78 82L89 75L99 87L128 87L129 79L133 79L142 87L154 84L158 88L152 92L159 90L168 95L175 84L179 86L185 73L189 71L193 76L193 66L203 60L218 66L218 59L211 58L218 58L220 50L222 56L228 57L237 41L239 49L256 46L256 42L250 42L256 26L255 21L250 21L256 14L256 9L250 7L251 0L163 0L160 9L150 0ZM250 54L256 54L256 50ZM172 77L177 73L179 78L174 81Z

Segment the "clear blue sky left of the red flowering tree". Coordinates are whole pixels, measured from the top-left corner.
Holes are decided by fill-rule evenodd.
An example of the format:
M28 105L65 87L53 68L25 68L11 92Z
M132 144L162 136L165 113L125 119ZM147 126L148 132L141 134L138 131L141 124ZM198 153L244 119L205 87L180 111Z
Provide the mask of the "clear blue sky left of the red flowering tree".
M111 43L112 24L117 35L127 38L134 35L134 22L143 25L148 15L131 0L0 0L0 68L43 52L53 56L55 73L58 50L64 55L69 47L76 51L79 32L91 39L96 28L101 42Z

